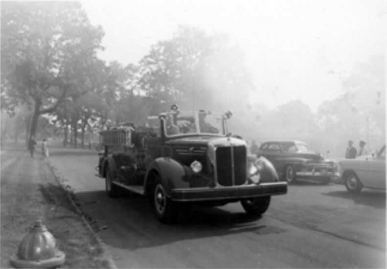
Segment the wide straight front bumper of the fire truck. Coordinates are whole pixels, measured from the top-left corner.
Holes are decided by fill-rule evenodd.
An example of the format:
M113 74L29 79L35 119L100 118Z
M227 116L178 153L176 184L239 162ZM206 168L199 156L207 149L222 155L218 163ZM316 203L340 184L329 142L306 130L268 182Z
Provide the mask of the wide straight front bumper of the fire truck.
M271 196L286 194L288 191L287 182L267 182L249 185L230 187L200 187L172 189L171 199L173 201L213 201L224 199L244 199L259 196Z

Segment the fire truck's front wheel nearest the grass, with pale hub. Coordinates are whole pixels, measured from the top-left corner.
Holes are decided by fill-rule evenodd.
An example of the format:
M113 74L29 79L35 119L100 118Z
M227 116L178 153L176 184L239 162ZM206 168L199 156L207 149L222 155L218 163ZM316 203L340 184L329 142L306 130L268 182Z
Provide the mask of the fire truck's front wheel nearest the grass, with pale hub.
M152 189L152 208L159 222L173 224L177 218L176 203L167 196L160 176L157 176Z

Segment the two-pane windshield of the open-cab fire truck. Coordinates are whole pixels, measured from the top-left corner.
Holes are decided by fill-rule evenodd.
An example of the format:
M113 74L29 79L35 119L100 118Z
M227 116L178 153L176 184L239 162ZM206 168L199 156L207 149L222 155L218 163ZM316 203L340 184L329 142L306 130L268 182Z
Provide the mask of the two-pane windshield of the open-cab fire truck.
M167 136L181 134L224 134L224 116L211 112L167 113L164 121Z

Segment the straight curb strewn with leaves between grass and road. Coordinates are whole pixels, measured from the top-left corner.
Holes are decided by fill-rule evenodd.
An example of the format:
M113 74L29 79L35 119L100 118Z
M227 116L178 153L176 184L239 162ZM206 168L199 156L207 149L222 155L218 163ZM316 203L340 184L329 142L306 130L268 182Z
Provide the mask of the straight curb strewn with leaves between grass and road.
M70 201L70 203L72 204L72 206L75 208L76 212L79 214L79 216L82 218L82 221L83 223L86 225L87 229L89 229L89 231L91 232L91 235L92 237L95 239L95 241L97 241L98 245L101 247L101 249L103 250L103 253L105 254L105 258L107 260L107 265L108 265L108 268L110 269L116 269L116 265L114 264L114 261L112 259L112 256L111 254L109 253L108 250L106 250L106 247L105 247L105 244L102 242L102 240L99 238L98 234L94 231L94 229L91 227L90 223L86 220L85 218L85 215L83 214L83 212L79 209L79 207L75 204L74 200L71 198L70 194L72 193L71 191L69 191L68 189L66 189L66 186L64 186L64 184L62 183L62 181L60 180L61 178L64 178L62 176L60 176L57 172L56 172L56 167L48 160L47 161L47 164L48 164L48 167L50 168L52 174L54 175L54 178L55 180L61 185L62 189L66 192L66 196L68 198L68 200Z

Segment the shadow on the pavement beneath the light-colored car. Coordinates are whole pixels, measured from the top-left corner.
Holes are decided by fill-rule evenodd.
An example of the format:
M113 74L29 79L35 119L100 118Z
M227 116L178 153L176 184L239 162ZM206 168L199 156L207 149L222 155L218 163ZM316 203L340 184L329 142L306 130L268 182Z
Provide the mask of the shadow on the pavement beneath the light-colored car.
M330 191L327 193L322 193L322 195L350 199L358 204L386 209L386 192L383 191L363 190L358 194L352 194L346 190L343 190Z

